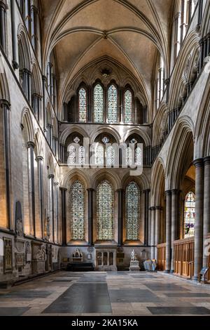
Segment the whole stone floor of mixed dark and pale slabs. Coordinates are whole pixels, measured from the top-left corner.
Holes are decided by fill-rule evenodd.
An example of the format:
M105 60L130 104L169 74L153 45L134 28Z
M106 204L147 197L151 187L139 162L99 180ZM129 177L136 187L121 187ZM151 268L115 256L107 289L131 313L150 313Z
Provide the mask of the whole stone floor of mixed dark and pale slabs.
M1 290L0 315L210 315L210 285L160 272L57 272Z

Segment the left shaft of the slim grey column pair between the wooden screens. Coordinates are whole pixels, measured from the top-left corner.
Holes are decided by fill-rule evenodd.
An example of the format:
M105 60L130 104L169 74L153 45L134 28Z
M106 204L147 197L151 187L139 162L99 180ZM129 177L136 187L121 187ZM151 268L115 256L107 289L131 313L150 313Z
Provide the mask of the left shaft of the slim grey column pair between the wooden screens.
M167 190L166 194L166 269L170 272L172 256L172 192Z

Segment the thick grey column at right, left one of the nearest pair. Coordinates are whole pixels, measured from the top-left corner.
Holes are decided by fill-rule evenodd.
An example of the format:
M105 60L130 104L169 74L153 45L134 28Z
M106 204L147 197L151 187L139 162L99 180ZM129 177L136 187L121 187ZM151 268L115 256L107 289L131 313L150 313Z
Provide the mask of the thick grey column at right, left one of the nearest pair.
M194 280L198 280L202 268L203 211L204 211L204 162L196 159L195 165L195 260Z

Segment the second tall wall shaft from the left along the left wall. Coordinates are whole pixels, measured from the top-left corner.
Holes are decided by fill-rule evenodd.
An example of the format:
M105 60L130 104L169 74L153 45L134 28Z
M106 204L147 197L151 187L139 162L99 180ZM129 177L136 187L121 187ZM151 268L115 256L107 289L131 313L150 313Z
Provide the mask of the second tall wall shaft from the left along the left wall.
M31 219L33 235L36 237L36 216L35 216L35 182L34 182L34 143L28 142L29 155L29 199L31 205Z

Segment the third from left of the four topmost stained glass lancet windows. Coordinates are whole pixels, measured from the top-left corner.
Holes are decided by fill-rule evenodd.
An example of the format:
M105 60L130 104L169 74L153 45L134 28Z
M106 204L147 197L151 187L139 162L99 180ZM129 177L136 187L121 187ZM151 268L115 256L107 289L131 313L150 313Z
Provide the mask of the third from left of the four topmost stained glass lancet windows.
M108 123L116 124L118 121L118 91L114 85L108 89Z

